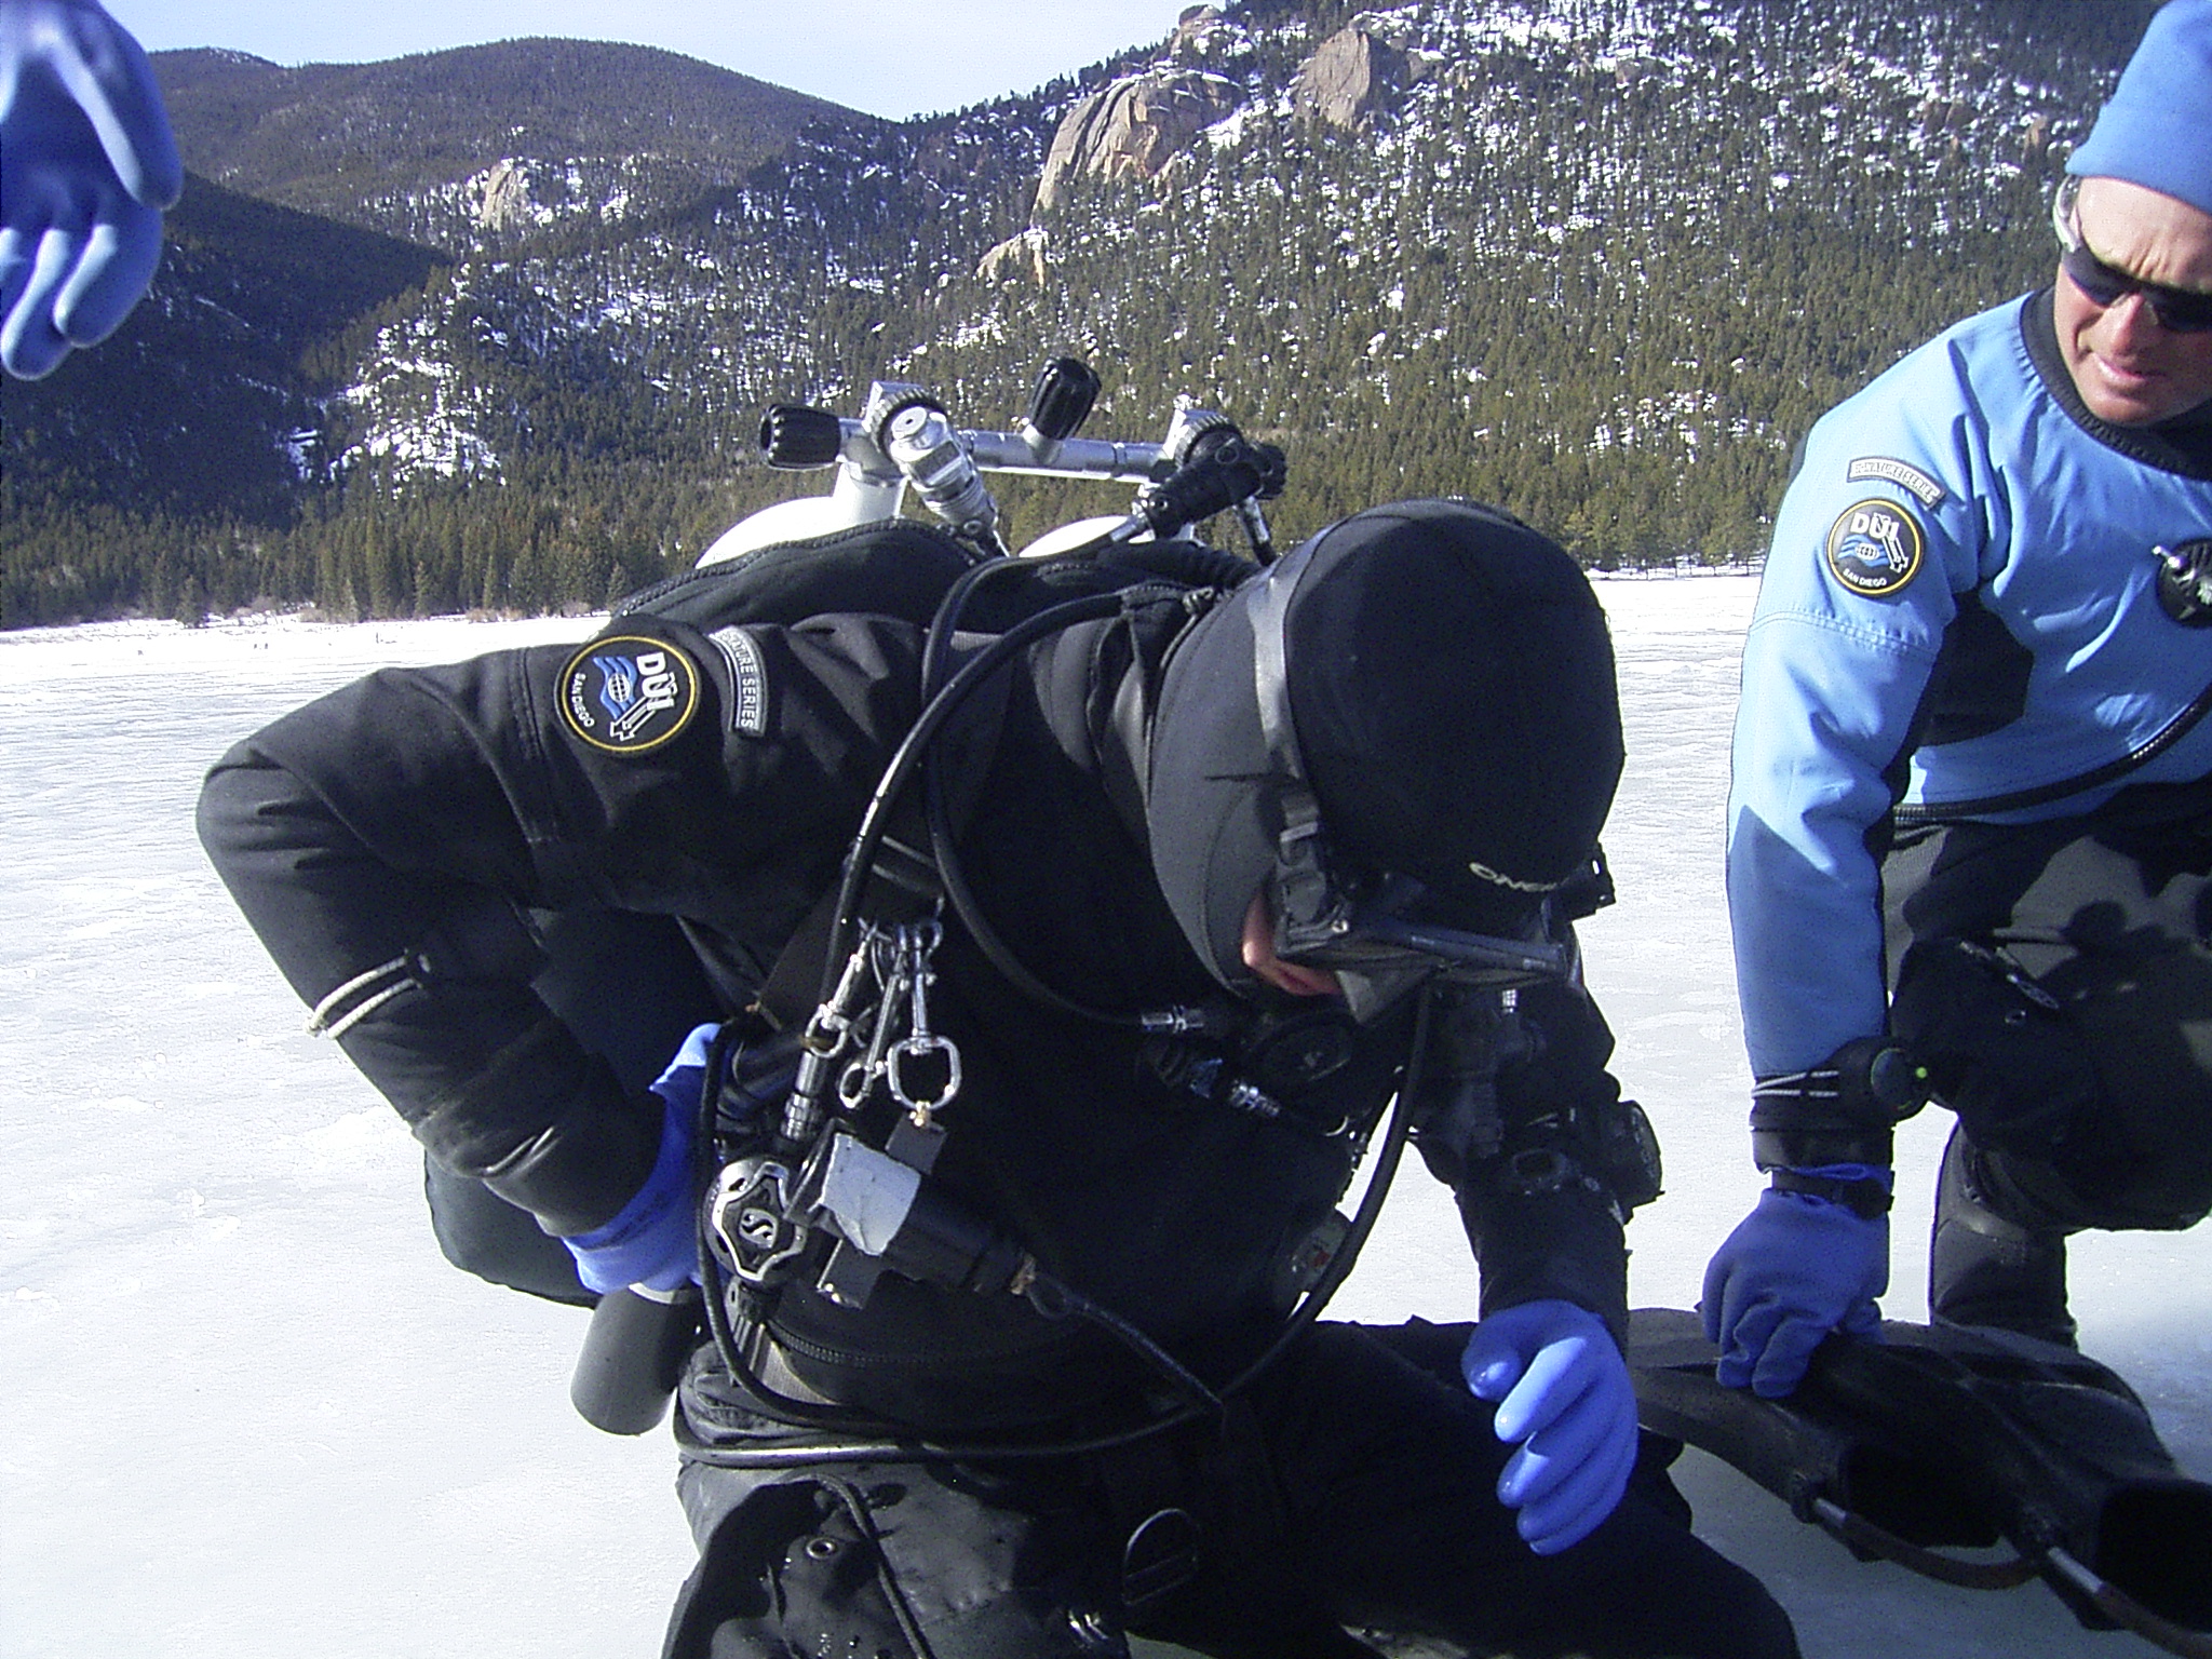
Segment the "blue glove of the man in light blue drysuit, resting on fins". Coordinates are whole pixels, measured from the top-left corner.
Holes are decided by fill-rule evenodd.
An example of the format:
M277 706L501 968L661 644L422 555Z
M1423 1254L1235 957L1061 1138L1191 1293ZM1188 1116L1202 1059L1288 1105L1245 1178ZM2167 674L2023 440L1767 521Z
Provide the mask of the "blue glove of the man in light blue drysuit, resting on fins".
M1781 1177L1878 1183L1889 1170L1834 1164ZM1880 1340L1889 1290L1889 1217L1860 1214L1814 1192L1767 1190L1705 1267L1705 1336L1721 1345L1719 1380L1778 1400L1805 1380L1829 1332Z

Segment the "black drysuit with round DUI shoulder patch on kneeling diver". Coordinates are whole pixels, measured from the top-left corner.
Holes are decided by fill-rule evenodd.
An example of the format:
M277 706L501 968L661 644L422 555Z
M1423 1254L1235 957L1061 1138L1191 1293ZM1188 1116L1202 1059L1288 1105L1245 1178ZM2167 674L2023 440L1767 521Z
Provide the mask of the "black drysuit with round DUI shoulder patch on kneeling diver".
M1086 1006L1228 1000L1144 838L1152 697L1199 604L1155 588L1046 637L933 759L978 902ZM909 622L690 615L608 628L692 675L641 743L564 710L584 653L544 646L372 675L234 748L201 801L217 867L301 998L330 1024L358 1015L338 1040L429 1155L551 1234L622 1210L661 1113L533 993L533 925L675 918L734 1013L836 883L920 703ZM1281 1327L1290 1250L1391 1095L1409 1006L1354 1029L1338 1071L1279 1086L1285 1110L1261 1117L1192 1084L1219 1055L1031 1000L953 920L936 969L933 1029L964 1082L931 1179L1210 1385L1245 1367ZM1557 1130L1617 1099L1586 998L1526 991L1522 1026L1498 1079L1506 1152L1515 1126ZM1495 1146L1436 1126L1422 1152L1458 1188L1489 1310L1564 1296L1621 1327L1626 1252L1599 1183L1522 1192ZM858 1312L787 1287L772 1329L794 1387L956 1442L1110 1431L1164 1391L1093 1323L891 1274ZM1455 1376L1462 1340L1321 1325L1225 1416L1104 1458L741 1471L695 1455L701 1568L670 1652L1113 1652L1119 1628L1223 1655L1358 1652L1343 1626L1467 1652L1794 1652L1781 1610L1690 1537L1663 1475L1584 1544L1531 1555L1493 1495L1504 1449ZM712 1347L681 1411L708 1453L765 1427ZM1161 1511L1192 1520L1128 1548Z

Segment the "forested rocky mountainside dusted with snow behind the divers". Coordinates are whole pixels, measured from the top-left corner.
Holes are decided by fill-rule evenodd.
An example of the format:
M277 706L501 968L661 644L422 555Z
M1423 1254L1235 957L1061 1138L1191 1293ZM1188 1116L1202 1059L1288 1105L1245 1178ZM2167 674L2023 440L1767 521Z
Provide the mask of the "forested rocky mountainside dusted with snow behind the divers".
M1060 352L1095 434L1281 442L1285 538L1469 493L1599 566L1752 557L1820 409L2048 281L2152 9L1232 0L902 124L637 46L164 53L175 252L7 387L0 622L604 604L818 487L761 405L1002 427Z

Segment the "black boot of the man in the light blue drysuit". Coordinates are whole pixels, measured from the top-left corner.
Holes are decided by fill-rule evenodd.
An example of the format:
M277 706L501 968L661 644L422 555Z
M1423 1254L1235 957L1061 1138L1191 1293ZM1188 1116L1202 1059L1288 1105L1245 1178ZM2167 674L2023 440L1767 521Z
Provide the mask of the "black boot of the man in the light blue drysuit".
M1989 1157L1951 1130L1936 1186L1929 1248L1929 1316L1938 1325L1995 1325L2062 1347L2075 1345L2066 1312L2066 1228L2015 1221Z

